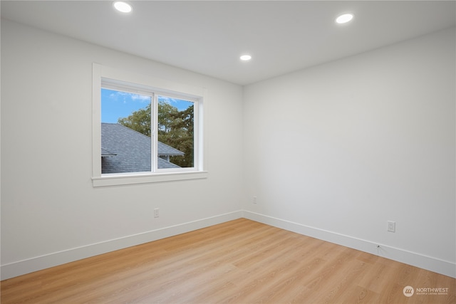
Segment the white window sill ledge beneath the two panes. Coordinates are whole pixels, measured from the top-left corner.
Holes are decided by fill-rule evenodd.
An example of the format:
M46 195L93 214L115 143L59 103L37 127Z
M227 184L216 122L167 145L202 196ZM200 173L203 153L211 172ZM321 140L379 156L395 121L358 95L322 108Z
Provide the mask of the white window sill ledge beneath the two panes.
M93 187L120 186L128 184L149 184L156 182L174 182L189 179L206 179L207 171L167 172L153 174L105 175L92 177Z

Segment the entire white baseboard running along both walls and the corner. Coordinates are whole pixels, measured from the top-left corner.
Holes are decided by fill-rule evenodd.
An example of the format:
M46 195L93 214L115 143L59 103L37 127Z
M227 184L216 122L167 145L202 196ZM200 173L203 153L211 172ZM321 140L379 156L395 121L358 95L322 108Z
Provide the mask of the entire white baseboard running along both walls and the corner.
M316 229L314 227L285 221L283 219L276 219L271 216L257 214L250 211L234 211L228 214L221 214L219 216L212 216L206 219L199 219L197 221L147 231L142 234L125 236L119 239L103 241L100 243L90 244L88 246L71 248L65 251L49 253L44 256L37 256L22 261L16 261L14 263L2 265L0 267L0 277L1 280L6 280L7 278L14 278L26 273L32 273L33 271L40 271L45 268L78 261L83 258L89 258L90 256L98 256L99 254L128 248L130 246L136 246L141 243L156 241L158 239L164 239L177 234L184 234L189 231L221 224L225 221L232 221L242 217L456 278L456 264L449 261L442 261L438 258L423 256L419 253L405 251L400 248L373 243L363 239L356 239L351 236ZM380 248L377 248L377 245L380 245Z

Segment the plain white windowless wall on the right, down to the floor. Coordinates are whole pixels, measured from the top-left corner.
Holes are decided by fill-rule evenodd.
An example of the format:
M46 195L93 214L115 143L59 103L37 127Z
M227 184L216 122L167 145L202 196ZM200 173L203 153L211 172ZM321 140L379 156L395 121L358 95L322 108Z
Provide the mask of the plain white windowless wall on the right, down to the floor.
M247 85L246 216L456 276L455 83L451 28Z

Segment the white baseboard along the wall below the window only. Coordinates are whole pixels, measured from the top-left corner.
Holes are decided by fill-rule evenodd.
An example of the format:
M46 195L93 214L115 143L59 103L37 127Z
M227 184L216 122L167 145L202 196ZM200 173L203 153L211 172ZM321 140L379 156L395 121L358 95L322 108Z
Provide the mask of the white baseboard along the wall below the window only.
M141 243L156 241L169 236L176 236L177 234L184 234L189 231L221 224L225 221L232 221L241 217L242 211L234 211L228 214L221 214L219 216L212 216L206 219L199 219L197 221L190 221L184 224L143 232L142 234L125 236L119 239L103 241L78 248L71 248L65 251L49 253L44 256L37 256L22 261L16 261L0 267L1 280L14 278L16 276L32 273L34 271L40 271L42 269L58 266L64 263L78 261L83 258L89 258L90 256L98 256L99 254L108 253L110 251L136 246Z

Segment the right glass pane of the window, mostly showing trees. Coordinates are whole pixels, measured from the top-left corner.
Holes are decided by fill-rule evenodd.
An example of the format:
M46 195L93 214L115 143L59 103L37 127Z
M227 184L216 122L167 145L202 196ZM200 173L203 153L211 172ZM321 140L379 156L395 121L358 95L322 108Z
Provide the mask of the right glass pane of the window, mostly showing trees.
M194 103L158 96L158 169L195 167Z

